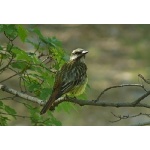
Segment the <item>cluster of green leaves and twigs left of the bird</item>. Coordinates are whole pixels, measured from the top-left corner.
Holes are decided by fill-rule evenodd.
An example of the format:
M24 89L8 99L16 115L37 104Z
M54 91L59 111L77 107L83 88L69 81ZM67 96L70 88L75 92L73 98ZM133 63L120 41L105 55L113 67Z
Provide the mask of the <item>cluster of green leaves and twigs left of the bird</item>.
M13 73L0 83L17 77L22 92L46 100L51 94L55 73L67 60L61 42L56 37L45 37L39 29L25 28L23 25L0 25L0 34L4 34L8 39L6 45L0 43L0 75L5 74L7 70ZM18 47L14 44L16 39L20 40L24 47L31 49ZM32 124L61 125L51 112L47 118L39 115L39 107L32 104L24 106L29 110ZM65 104L64 110L68 111L67 107L70 106ZM16 114L16 111L4 105L2 100L0 112L7 112L12 116ZM1 125L7 125L7 120L8 118L1 114Z

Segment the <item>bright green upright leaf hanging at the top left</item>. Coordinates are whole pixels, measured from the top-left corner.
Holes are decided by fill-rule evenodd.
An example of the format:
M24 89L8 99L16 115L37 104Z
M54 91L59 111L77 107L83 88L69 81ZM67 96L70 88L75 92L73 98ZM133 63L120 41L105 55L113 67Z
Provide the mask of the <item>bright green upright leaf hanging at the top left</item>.
M27 38L28 31L22 25L17 25L17 30L18 30L18 36L24 42L25 39Z

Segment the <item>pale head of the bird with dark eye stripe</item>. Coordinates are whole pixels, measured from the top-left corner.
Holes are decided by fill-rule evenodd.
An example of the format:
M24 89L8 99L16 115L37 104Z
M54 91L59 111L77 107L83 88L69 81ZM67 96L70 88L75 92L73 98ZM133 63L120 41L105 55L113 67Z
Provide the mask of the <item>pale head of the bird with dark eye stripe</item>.
M84 61L85 55L88 53L88 51L82 49L82 48L77 48L72 51L70 60L81 60Z

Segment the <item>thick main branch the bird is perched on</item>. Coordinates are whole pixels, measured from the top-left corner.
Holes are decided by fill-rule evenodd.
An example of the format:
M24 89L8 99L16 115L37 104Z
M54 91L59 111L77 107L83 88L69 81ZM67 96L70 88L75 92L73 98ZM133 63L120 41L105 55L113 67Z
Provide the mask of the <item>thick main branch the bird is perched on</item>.
M8 87L1 85L1 84L0 84L0 89L2 91L5 91L7 93L13 94L13 95L18 96L18 97L21 97L21 98L26 99L28 101L38 103L40 105L45 104L45 101L43 101L41 99L29 96L29 95L22 93L22 92L18 92L14 89L8 88ZM145 107L145 108L150 108L150 105L148 105L148 104L139 103L141 100L143 100L148 95L150 95L150 91L148 91L146 94L142 95L140 98L138 98L137 100L135 100L133 102L116 102L116 103L107 102L107 101L95 102L95 100L79 100L79 99L75 99L75 98L61 97L54 102L52 110L62 102L71 102L71 103L78 104L80 106L90 105L90 106L117 107L117 108L118 107Z

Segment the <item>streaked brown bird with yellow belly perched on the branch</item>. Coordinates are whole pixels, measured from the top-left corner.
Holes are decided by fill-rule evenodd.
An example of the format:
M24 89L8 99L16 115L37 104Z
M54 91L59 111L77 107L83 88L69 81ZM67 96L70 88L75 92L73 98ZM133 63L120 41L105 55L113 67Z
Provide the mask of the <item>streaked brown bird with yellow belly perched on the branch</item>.
M87 50L77 48L72 51L70 60L66 62L55 76L52 94L42 108L40 114L46 113L58 98L67 96L79 96L85 91L88 82L85 55Z

